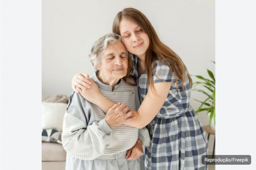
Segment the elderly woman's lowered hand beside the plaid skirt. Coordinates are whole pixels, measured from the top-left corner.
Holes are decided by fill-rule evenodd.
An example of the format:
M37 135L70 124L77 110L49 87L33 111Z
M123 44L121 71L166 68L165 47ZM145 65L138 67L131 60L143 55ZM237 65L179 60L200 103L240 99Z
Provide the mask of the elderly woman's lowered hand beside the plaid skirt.
M142 141L138 139L135 145L127 151L125 158L128 160L136 160L143 154Z

